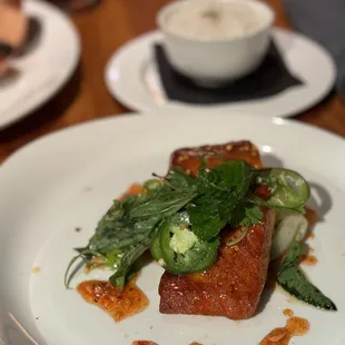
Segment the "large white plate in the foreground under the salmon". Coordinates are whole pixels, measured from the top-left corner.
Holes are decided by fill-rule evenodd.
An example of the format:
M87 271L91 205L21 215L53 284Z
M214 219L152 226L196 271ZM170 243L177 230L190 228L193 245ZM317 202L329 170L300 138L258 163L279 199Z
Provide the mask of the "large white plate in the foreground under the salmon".
M160 345L253 345L285 324L284 308L310 322L310 332L294 344L345 344L345 144L323 130L283 119L239 115L132 116L103 119L37 140L0 167L0 338L23 345L27 329L40 345L130 345L151 339ZM197 124L197 126L196 126ZM63 273L85 245L111 200L132 181L164 174L169 154L181 146L250 139L267 165L305 175L319 201L318 264L308 276L338 307L326 313L293 302L276 290L254 318L161 315L157 287L161 268L151 264L138 279L150 300L141 314L116 324L105 312L63 287ZM81 231L75 231L81 227ZM31 269L40 267L33 274ZM82 278L82 277L79 277ZM1 318L1 317L0 317ZM14 325L20 323L22 329ZM36 344L37 344L36 343Z

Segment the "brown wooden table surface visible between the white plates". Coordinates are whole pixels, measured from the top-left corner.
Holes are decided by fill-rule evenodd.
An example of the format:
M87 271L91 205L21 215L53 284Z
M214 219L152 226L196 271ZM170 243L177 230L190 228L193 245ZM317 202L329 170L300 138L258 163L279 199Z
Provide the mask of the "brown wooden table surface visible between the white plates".
M279 0L266 0L277 11L277 26L289 27ZM109 57L134 37L155 28L155 14L168 0L103 0L72 14L80 32L80 67L61 92L17 125L0 131L0 162L24 144L57 129L129 111L107 92L103 81ZM296 117L345 136L345 102L332 93Z

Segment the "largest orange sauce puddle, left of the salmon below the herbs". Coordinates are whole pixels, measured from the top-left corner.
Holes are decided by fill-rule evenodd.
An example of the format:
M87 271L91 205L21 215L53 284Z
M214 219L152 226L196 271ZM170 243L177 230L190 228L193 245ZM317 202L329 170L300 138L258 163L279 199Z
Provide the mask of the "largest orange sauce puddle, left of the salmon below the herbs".
M82 282L78 285L77 292L88 303L106 310L116 322L138 314L148 306L148 298L137 287L135 279L126 285L124 292L103 280Z

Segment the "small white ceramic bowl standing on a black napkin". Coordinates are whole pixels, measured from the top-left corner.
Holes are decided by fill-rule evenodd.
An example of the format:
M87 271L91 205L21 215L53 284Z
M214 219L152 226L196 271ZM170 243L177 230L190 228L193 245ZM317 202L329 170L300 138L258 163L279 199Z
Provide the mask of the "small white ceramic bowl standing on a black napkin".
M213 0L248 6L259 19L255 31L239 37L205 38L171 30L169 17L186 7L199 6L203 0L184 0L167 4L157 14L165 36L165 47L172 67L201 85L220 85L253 72L262 63L270 40L275 13L257 0Z

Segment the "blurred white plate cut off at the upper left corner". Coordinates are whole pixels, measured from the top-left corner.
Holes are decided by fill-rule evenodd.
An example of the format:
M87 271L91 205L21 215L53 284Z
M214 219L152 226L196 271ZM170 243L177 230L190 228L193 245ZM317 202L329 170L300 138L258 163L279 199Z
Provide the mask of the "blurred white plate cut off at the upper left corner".
M19 77L0 82L0 129L55 96L75 71L80 57L78 32L63 12L38 0L24 1L24 9L41 21L42 36L34 50L13 61Z

